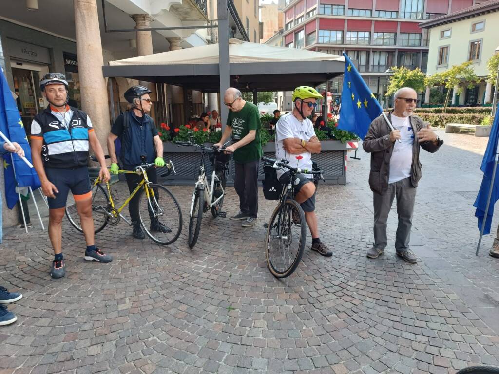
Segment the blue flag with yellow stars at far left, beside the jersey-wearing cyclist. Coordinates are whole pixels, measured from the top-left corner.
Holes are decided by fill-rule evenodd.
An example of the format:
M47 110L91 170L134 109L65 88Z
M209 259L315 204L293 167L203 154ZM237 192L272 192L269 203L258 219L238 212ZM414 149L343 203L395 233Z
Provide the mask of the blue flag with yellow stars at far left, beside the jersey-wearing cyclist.
M24 156L31 162L31 148L29 148L26 132L22 125L17 105L8 87L7 80L0 68L0 131L11 142L19 143L24 150ZM0 139L2 142L3 140ZM31 162L32 163L32 162ZM15 177L14 177L15 167ZM3 154L3 171L5 179L5 200L12 209L19 199L15 187L31 187L33 190L40 187L40 180L34 168L30 168L17 155ZM25 193L23 193L25 194Z

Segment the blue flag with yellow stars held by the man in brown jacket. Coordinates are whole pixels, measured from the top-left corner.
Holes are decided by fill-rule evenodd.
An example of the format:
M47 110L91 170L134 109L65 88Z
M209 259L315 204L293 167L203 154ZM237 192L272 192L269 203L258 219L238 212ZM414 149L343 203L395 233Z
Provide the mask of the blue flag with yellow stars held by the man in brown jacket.
M350 131L364 139L372 120L381 115L381 105L345 52L343 56L345 74L338 129Z

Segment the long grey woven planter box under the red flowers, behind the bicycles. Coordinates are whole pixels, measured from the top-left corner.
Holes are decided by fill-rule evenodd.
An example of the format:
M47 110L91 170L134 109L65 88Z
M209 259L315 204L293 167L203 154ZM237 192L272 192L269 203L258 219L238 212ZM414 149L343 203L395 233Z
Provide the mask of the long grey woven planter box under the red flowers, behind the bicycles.
M345 157L347 152L346 143L336 140L321 141L322 150L320 154L312 155L312 160L324 171L324 180L329 185L346 185ZM170 174L162 178L161 174L167 172L166 168L159 168L158 177L161 183L166 185L191 186L198 177L201 152L196 147L178 147L171 142L163 143L165 162L172 160L177 174ZM263 155L275 158L275 143L268 142L263 146ZM292 163L293 161L291 161ZM207 174L211 175L212 167L206 163ZM263 163L260 163L258 179L263 179ZM234 160L229 163L229 175L227 178L229 186L234 185Z

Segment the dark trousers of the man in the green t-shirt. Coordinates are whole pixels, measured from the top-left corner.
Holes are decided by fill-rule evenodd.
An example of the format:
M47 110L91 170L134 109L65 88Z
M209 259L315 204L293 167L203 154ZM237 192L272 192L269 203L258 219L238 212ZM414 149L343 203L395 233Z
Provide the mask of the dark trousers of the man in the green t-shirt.
M234 188L239 195L239 209L254 218L258 214L258 163L259 160L235 162Z

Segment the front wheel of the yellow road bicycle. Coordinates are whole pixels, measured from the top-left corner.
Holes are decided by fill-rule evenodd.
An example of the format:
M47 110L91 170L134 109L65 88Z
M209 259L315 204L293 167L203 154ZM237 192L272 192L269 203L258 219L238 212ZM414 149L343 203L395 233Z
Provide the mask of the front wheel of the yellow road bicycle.
M149 198L144 188L139 192L139 218L142 228L158 244L168 245L182 231L182 211L175 196L167 188L149 185Z

